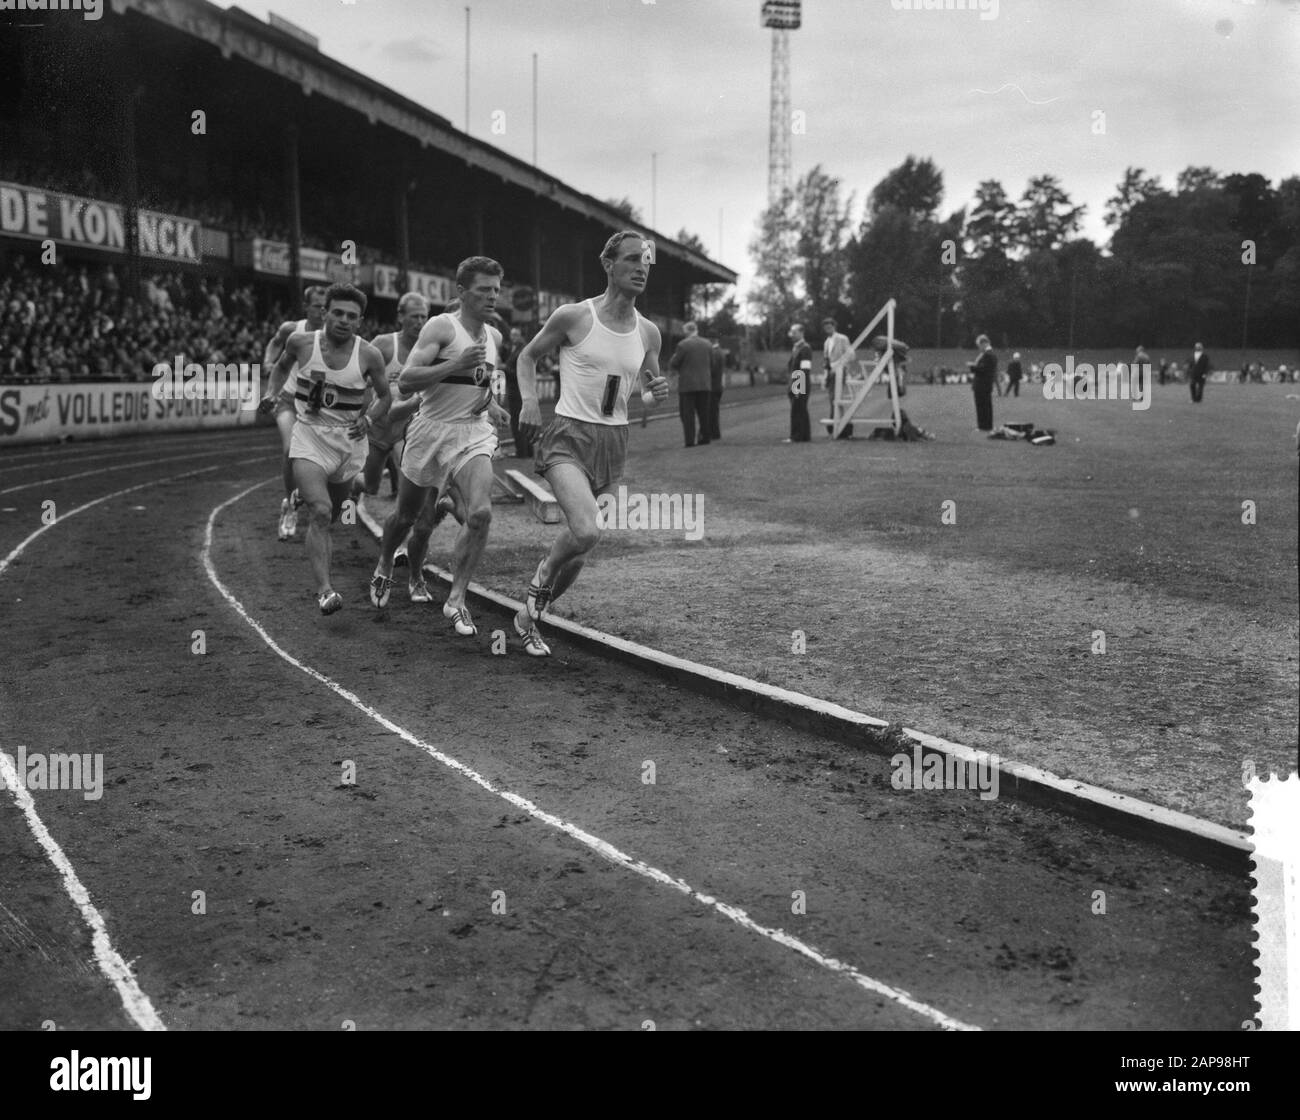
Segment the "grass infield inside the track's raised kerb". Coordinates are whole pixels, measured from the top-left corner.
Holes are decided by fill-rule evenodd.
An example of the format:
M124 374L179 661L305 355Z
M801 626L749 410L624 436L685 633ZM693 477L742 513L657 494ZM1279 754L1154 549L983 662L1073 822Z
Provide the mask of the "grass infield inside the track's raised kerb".
M1240 828L1243 763L1296 767L1296 392L994 398L997 425L1054 429L1052 447L976 434L966 386L909 388L927 443L832 442L818 391L812 442L783 444L786 399L760 388L724 395L723 439L688 450L634 403L624 485L697 516L702 495L699 539L608 530L556 609ZM491 531L478 578L520 598L556 526L497 505Z

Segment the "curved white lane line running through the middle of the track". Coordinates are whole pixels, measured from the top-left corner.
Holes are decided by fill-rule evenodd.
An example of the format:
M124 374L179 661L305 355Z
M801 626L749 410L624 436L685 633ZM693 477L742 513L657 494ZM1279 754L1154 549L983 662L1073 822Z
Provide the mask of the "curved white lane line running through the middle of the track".
M234 495L234 498L228 498L220 505L213 508L213 511L208 515L208 528L204 530L203 534L203 552L200 554L200 559L203 560L203 568L208 573L208 578L212 581L212 585L217 589L217 591L221 592L221 596L234 608L235 613L238 613L239 617L243 618L257 633L257 637L260 637L263 642L265 642L276 654L283 657L290 665L292 665L295 669L300 669L308 677L320 681L320 683L322 683L326 689L329 689L335 695L342 696L354 708L356 708L358 711L363 712L364 715L374 720L374 722L377 722L381 728L385 728L393 734L406 739L406 742L424 751L434 761L442 763L442 765L447 767L451 770L455 770L458 774L460 774L464 778L468 778L474 785L485 789L488 793L495 794L498 798L508 802L515 808L528 813L534 820L550 825L554 829L559 829L566 835L573 837L573 839L586 845L589 848L592 848L592 851L594 851L602 859L607 859L610 863L619 864L627 871L634 872L636 874L640 874L644 878L649 878L651 882L658 882L663 886L672 887L673 890L686 895L688 898L694 899L696 902L702 903L703 906L711 907L724 917L729 917L741 928L748 929L751 933L757 933L760 937L766 937L770 941L776 942L777 945L784 945L786 948L794 950L796 952L806 956L809 960L812 960L816 964L820 964L823 968L827 968L831 972L844 973L845 976L850 977L859 987L864 987L867 991L872 991L876 995L883 995L887 999L892 999L901 1007L906 1007L909 1011L916 1012L918 1015L931 1020L932 1023L937 1024L945 1030L980 1029L979 1026L972 1026L967 1023L962 1023L958 1019L953 1019L945 1015L939 1008L931 1007L927 1003L922 1003L919 999L914 999L902 989L892 987L890 985L884 984L883 981L874 980L872 977L866 976L862 972L858 972L858 969L855 969L853 965L845 964L842 960L836 960L833 956L827 956L826 954L814 948L811 945L807 945L806 942L800 941L800 938L792 937L790 934L785 933L785 930L783 929L771 929L766 925L759 925L740 907L731 906L725 902L714 898L712 895L696 890L684 880L673 878L664 871L659 871L658 868L651 867L650 864L642 863L638 859L633 859L632 856L614 847L614 845L608 843L607 841L603 841L599 837L593 835L585 829L581 829L577 825L562 817L555 816L554 813L549 813L545 809L538 808L526 798L520 796L516 793L511 793L510 790L500 789L499 786L494 785L491 781L485 778L482 774L480 774L477 770L472 769L471 767L465 765L458 759L451 757L451 755L443 754L437 747L430 746L429 743L424 742L424 739L406 730L406 728L394 724L390 719L387 719L381 712L376 711L369 704L367 704L356 694L350 693L347 689L344 689L335 681L330 680L324 673L318 672L317 669L313 669L304 661L299 661L292 654L289 654L287 651L281 648L277 644L276 639L266 633L263 625L243 608L243 604L234 595L230 594L230 590L226 587L225 583L221 582L221 577L217 576L217 569L212 564L212 538L213 538L213 529L217 521L217 515L220 515L221 511L225 509L228 505L233 505L235 502L239 502L240 499L252 494L254 490L266 486L270 482L274 482L274 479L257 482L254 486L250 486L247 490Z

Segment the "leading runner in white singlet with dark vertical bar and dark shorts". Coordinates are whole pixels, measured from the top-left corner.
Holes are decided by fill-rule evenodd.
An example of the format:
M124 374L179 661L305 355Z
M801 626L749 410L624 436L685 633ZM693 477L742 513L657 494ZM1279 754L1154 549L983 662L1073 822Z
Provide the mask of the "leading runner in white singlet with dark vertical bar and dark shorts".
M536 439L536 469L551 487L567 528L537 565L515 633L533 657L550 656L537 622L582 570L601 539L597 498L618 486L628 456L628 395L641 374L655 400L668 396L659 373L659 327L636 308L654 264L654 242L620 230L604 243L603 296L564 304L519 355L520 430L537 437L537 359L560 352L560 399L555 418Z

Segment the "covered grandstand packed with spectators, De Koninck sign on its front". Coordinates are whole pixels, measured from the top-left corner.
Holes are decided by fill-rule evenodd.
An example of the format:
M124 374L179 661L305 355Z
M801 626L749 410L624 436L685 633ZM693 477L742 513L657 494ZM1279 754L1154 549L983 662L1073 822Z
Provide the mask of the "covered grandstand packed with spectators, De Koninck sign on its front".
M627 223L238 8L122 0L4 36L0 71L8 385L147 379L174 352L257 361L313 282L361 286L381 329L410 288L445 305L473 253L502 261L499 311L528 333L589 294ZM653 235L642 307L668 344L692 286L736 273Z

